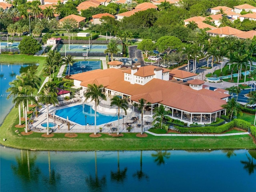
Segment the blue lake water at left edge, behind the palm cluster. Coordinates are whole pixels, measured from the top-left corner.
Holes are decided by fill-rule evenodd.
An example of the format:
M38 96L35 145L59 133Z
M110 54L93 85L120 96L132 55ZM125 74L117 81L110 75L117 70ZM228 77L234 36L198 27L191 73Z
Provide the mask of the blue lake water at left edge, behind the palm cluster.
M22 72L26 72L28 68L37 68L35 63L1 63L0 72L0 121L1 124L10 112L14 104L12 104L12 98L7 100L9 93L6 90L10 87L9 82L16 78Z

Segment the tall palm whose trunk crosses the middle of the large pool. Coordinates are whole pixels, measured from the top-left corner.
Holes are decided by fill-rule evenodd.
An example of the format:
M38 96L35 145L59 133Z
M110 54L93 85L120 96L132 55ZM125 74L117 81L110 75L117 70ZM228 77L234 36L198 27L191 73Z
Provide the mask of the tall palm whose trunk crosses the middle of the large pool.
M96 115L97 115L97 106L100 100L106 100L106 95L102 93L103 85L97 86L96 84L88 84L88 88L85 93L86 100L90 98L91 101L94 101L94 135L96 135Z

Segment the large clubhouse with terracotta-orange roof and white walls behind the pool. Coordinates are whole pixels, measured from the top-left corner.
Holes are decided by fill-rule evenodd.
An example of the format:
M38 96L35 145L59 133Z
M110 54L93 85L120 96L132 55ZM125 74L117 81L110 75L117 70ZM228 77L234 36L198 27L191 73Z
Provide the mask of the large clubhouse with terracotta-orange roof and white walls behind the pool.
M194 79L196 74L177 71L136 64L130 68L92 70L71 78L76 87L82 87L80 95L86 92L88 84L102 84L102 92L108 99L113 96L127 98L132 108L132 104L144 98L149 102L145 107L147 114L153 114L154 108L162 104L172 112L172 118L188 124L211 123L226 114L226 109L221 107L228 101L229 94L225 90L209 90L203 80Z

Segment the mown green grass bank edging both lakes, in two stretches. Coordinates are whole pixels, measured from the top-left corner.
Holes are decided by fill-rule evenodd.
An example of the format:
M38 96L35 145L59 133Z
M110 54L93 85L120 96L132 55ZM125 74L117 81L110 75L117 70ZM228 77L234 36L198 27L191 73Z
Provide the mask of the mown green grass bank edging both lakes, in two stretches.
M1 55L1 62L38 62L38 74L42 76L44 57L26 55ZM2 60L3 58L3 60ZM25 58L25 59L23 59ZM38 60L38 61L37 61ZM41 69L41 70L40 70ZM255 149L252 138L248 135L224 137L193 136L152 136L136 137L136 133L124 133L123 137L114 138L102 134L100 138L90 138L89 134L78 133L76 138L65 138L64 133L54 134L52 138L43 138L43 133L34 132L28 136L18 136L14 126L18 124L18 108L12 108L0 127L0 144L19 149L89 151L89 150L203 150L203 149ZM22 130L20 128L19 130ZM3 141L6 138L6 141Z

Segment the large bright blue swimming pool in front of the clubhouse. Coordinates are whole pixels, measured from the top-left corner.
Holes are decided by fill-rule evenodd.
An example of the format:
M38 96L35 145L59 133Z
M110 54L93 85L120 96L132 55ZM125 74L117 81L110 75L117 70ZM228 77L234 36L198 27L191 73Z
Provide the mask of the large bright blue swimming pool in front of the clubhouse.
M64 109L56 110L55 114L57 116L61 116L62 118L67 118L70 121L76 122L81 125L85 125L85 116L86 116L86 123L89 123L90 125L94 125L94 110L92 109L92 106L81 104L76 105ZM120 116L120 119L122 117ZM117 115L110 115L110 114L103 114L97 112L96 115L96 122L97 125L106 124L108 122L112 122L118 119Z

